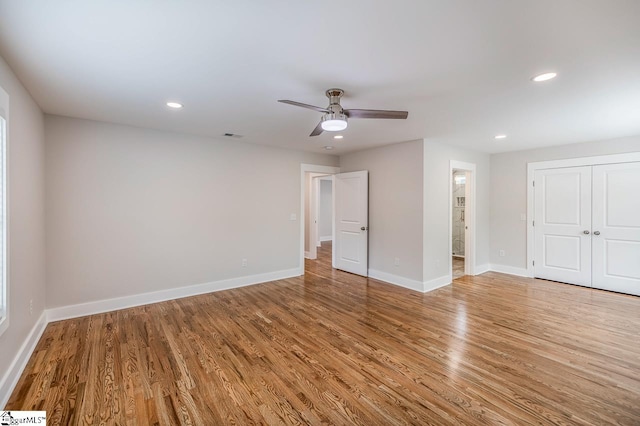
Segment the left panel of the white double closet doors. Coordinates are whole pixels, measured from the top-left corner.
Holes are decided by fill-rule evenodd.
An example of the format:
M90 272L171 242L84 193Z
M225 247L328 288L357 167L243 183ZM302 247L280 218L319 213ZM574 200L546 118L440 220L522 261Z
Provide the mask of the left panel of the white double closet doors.
M535 276L591 286L591 167L535 172Z

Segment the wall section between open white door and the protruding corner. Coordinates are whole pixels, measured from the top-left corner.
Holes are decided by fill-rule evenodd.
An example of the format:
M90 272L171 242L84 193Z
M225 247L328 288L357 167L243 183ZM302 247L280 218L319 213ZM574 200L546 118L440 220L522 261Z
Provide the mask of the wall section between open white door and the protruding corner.
M342 173L369 171L370 270L420 283L422 145L422 140L404 142L340 157Z

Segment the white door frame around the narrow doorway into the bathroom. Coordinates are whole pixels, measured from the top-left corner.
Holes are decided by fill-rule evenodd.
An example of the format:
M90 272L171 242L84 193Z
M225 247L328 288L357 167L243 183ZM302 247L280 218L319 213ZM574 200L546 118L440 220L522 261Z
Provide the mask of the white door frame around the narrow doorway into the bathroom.
M476 274L476 165L464 161L451 160L449 162L449 281L453 280L453 171L464 170L465 205L464 205L464 273Z

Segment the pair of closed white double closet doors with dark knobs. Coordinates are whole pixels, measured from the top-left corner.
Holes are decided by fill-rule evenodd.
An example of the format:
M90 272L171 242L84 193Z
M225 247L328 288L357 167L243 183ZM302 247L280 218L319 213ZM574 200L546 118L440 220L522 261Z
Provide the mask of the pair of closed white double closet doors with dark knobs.
M640 163L535 172L535 276L640 295Z

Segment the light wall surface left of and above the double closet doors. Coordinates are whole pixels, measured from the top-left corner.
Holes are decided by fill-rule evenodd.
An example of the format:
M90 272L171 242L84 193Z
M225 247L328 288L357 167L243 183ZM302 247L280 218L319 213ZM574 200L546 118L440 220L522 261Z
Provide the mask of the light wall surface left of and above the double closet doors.
M493 154L491 264L521 270L527 267L527 222L520 220L527 212L527 163L626 152L640 152L640 136ZM499 250L505 251L504 257L498 256Z

